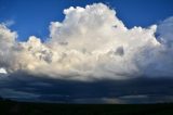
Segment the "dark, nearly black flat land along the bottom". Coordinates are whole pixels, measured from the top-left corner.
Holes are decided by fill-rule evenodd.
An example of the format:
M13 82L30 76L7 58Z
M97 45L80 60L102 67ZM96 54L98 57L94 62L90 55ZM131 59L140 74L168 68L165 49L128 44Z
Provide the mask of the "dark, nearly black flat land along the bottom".
M3 100L0 115L173 115L173 104L53 104Z

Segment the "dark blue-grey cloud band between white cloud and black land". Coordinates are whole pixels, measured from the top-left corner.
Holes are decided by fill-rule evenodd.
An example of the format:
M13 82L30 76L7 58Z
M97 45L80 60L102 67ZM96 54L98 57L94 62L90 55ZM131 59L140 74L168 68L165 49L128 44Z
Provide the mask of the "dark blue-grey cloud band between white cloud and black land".
M81 82L26 74L0 78L0 95L16 101L57 103L168 103L173 80L135 78Z

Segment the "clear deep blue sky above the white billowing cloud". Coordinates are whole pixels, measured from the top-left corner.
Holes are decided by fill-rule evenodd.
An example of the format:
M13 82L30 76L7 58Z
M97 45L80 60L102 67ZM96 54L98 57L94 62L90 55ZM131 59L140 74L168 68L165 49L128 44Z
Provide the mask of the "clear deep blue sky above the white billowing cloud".
M147 27L173 15L172 0L0 0L0 22L13 22L10 28L18 33L18 40L35 35L44 41L50 22L64 20L64 9L98 2L116 9L129 28Z

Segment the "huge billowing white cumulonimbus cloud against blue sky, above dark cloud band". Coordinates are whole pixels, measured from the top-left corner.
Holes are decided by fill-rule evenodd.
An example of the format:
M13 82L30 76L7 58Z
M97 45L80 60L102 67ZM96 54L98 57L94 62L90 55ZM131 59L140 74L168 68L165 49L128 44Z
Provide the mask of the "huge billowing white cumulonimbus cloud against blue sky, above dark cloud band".
M76 80L172 77L173 17L129 29L103 3L71 7L64 14L62 23L51 22L45 42L35 36L17 41L17 34L1 24L0 67Z

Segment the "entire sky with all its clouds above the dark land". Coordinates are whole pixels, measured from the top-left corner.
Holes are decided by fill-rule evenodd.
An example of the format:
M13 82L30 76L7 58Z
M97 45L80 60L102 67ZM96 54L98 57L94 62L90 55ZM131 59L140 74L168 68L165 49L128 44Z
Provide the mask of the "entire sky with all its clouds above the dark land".
M0 0L0 97L173 102L172 0Z

